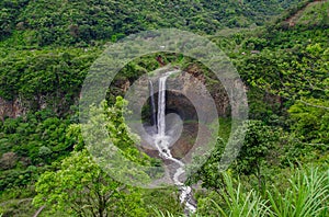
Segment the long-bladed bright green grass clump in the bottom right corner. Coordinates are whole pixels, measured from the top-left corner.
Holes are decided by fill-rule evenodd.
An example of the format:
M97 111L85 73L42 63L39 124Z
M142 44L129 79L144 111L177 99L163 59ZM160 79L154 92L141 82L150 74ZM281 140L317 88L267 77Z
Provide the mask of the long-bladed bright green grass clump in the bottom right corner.
M329 171L321 173L317 169L310 169L307 173L297 170L284 192L273 186L268 190L268 195L273 212L271 216L328 216Z

